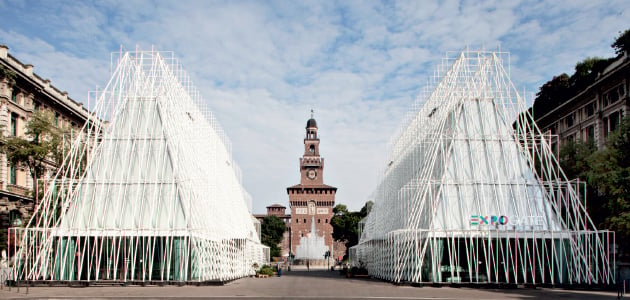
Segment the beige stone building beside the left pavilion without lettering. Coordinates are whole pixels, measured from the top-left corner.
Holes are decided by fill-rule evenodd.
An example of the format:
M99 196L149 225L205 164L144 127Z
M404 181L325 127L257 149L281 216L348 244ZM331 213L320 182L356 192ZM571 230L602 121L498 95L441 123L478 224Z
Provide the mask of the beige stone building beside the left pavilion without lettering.
M9 54L7 46L0 45L0 126L4 137L25 137L26 123L39 110L54 114L56 125L69 132L69 136L64 136L68 142L83 127L89 114L67 92L35 74L33 65L20 62ZM49 175L43 174L41 178ZM0 249L6 247L8 227L25 226L29 221L34 208L33 186L28 169L12 166L0 154L0 234L3 235Z

